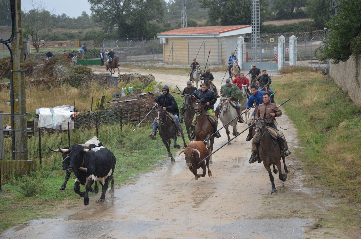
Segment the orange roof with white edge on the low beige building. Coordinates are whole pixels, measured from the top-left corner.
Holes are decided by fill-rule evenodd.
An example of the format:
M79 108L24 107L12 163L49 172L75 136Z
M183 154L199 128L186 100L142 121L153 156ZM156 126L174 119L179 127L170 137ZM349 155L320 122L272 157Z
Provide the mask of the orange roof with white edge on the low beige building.
M199 36L231 36L251 33L252 25L238 26L211 26L211 27L185 27L164 31L157 34L163 37L199 37Z

